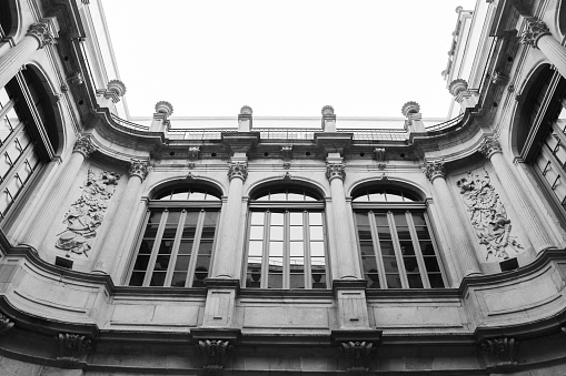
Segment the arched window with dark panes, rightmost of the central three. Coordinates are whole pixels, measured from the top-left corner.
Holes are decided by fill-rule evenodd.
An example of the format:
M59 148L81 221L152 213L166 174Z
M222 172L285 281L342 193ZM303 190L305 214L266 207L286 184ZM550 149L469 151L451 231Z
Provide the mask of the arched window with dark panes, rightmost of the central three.
M371 186L352 194L360 263L369 288L446 285L426 204L406 189Z

